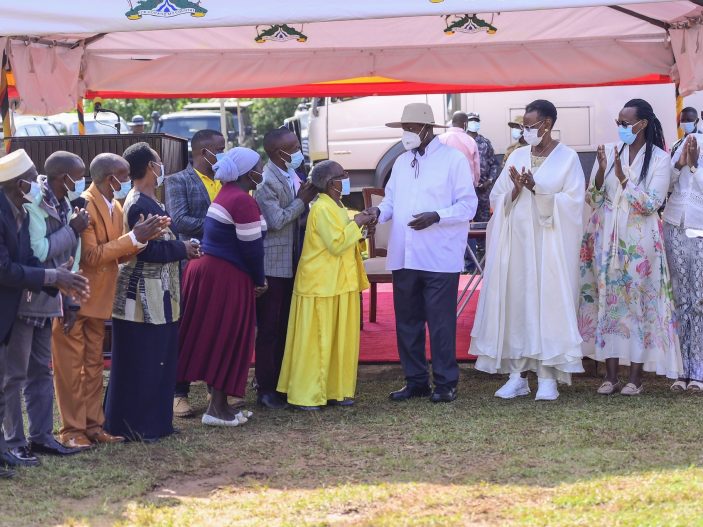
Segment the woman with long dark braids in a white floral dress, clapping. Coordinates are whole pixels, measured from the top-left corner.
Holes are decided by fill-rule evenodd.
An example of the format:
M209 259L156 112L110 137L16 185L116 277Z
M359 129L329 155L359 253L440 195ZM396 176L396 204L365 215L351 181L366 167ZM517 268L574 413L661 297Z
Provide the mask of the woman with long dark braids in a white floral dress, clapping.
M594 211L581 245L579 329L584 355L606 363L604 395L642 392L642 372L676 379L681 352L657 211L671 162L661 123L642 99L616 119L620 142L598 147L587 191ZM628 382L618 367L630 366Z

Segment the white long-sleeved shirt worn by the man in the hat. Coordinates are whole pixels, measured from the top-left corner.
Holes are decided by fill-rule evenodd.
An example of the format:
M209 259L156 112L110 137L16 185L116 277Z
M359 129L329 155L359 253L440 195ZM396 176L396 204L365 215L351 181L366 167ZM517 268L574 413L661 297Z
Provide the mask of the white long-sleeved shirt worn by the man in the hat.
M379 221L393 220L386 268L463 271L469 221L477 205L471 167L461 152L435 138L422 156L402 154L379 205ZM413 215L422 212L437 212L439 222L421 231L408 227Z

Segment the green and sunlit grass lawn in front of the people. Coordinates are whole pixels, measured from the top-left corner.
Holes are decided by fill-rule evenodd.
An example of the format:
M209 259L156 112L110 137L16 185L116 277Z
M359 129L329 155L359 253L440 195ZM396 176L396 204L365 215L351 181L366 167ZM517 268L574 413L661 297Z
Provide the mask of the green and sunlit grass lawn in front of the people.
M156 445L44 458L0 482L0 524L703 526L703 397L654 377L603 397L584 377L502 401L502 382L463 366L454 403L397 404L400 368L362 367L352 408L252 405L240 428L177 420Z

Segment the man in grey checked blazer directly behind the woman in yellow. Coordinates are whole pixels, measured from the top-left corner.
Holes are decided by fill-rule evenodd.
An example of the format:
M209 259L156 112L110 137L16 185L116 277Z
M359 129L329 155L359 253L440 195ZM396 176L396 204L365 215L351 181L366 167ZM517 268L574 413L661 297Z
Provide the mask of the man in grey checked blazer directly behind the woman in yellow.
M264 136L269 162L264 182L256 191L268 231L264 238L264 267L268 291L257 299L256 382L258 402L268 408L283 408L276 393L286 345L288 313L300 249L300 219L317 195L310 182L301 182L295 170L303 161L297 136L278 128Z

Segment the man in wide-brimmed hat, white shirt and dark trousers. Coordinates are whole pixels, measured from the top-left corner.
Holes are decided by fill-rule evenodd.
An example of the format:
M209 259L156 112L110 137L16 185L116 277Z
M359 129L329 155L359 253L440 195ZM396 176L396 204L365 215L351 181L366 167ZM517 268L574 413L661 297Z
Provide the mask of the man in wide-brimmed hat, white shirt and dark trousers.
M406 385L394 401L431 396L456 399L456 297L464 250L478 204L471 167L458 150L434 135L432 108L409 104L400 122L407 152L396 159L386 195L367 212L381 223L393 220L387 267L393 272L398 353ZM425 326L430 331L434 390L425 358Z

